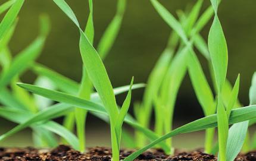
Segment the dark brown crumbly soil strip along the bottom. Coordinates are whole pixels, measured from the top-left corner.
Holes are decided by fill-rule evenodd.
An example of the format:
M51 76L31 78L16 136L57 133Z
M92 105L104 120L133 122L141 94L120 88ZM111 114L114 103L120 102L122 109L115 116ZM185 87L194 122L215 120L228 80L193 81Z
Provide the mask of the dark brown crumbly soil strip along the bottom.
M120 150L120 159L129 156L134 150ZM111 161L111 150L105 147L89 148L86 153L80 153L68 146L58 146L55 149L34 149L27 147L19 148L1 148L0 160L11 161L58 161L58 160L92 160L92 161ZM166 161L217 161L217 158L211 154L203 153L202 150L180 152L176 151L173 156L164 154L163 150L151 149L141 154L136 160L166 160ZM252 161L256 160L256 151L251 151L247 154L239 154L236 161Z

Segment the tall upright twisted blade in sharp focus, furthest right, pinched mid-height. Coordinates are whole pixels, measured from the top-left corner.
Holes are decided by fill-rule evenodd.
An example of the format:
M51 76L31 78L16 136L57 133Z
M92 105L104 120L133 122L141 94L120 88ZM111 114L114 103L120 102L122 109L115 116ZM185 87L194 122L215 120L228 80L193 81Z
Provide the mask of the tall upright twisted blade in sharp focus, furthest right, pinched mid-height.
M227 114L221 98L221 91L226 80L227 74L227 43L217 16L218 1L211 0L215 16L208 36L208 48L210 52L211 62L213 65L214 77L217 85L218 103L217 103L217 118L218 118L218 149L220 161L226 161L226 148L228 136L228 121ZM233 107L232 107L233 108Z

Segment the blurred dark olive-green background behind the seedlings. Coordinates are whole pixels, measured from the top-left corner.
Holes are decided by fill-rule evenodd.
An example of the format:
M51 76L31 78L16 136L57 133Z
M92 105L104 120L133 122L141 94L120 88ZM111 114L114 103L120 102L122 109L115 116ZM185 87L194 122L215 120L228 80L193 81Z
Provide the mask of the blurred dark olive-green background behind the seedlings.
M2 4L3 0L0 0ZM73 8L81 26L85 26L88 17L88 1L86 0L66 0ZM115 14L115 0L95 0L94 23L95 23L95 45L98 44L105 28ZM161 0L162 4L176 15L177 10L185 10L195 4L194 0ZM210 5L210 1L205 1L202 10ZM256 1L255 0L225 0L221 2L218 15L223 26L229 48L229 68L227 77L234 83L238 73L241 74L241 88L239 99L243 105L248 105L248 90L251 83L251 76L256 71ZM71 21L61 12L61 10L51 0L25 1L24 7L19 14L18 26L10 43L12 52L18 53L32 42L38 34L38 17L45 12L51 18L52 29L48 40L38 61L61 74L80 81L82 75L82 61L79 53L79 33ZM209 23L202 36L207 40ZM146 82L149 72L154 67L155 62L166 46L170 28L161 19L148 0L127 0L127 9L124 14L123 24L114 43L113 49L104 61L111 82L114 87L129 84L130 78L135 76L135 82ZM207 62L200 54L198 57L205 69L205 74L209 78ZM22 77L26 83L32 83L35 75L26 72ZM208 79L210 82L210 79ZM133 91L133 101L141 100L143 90ZM123 96L118 96L118 102L122 102ZM179 92L176 103L174 122L176 126L192 121L202 116L201 108L196 100L189 77L185 78ZM9 124L5 120L1 121L1 133L7 131L14 124ZM103 122L89 117L88 141L93 145L95 136L101 137L101 131L107 129ZM96 130L98 134L93 135L91 131ZM30 141L30 132L23 131L4 142L7 146L17 145L14 138L23 140L18 146L24 146L26 141ZM200 135L198 135L200 134ZM201 132L196 133L195 141L199 146L203 141ZM107 135L106 137L109 137ZM186 135L178 137L176 146L188 147ZM102 137L98 140L99 145L109 143ZM183 141L183 142L179 142ZM186 143L186 145L182 145ZM89 144L90 145L90 144Z

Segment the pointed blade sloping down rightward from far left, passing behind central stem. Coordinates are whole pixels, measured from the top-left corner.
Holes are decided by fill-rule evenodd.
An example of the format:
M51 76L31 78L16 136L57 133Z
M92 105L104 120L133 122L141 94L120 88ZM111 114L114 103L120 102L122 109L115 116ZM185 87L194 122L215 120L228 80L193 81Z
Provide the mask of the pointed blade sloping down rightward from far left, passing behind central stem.
M80 99L79 97L76 97L76 96L71 96L69 94L61 93L61 92L58 92L58 91L43 89L42 87L37 87L37 86L29 85L29 84L18 84L18 85L27 89L27 90L29 90L29 91L31 91L31 92L33 92L33 93L35 93L35 94L39 94L41 96L47 97L49 99L52 99L52 100L55 100L55 101L58 101L58 102L68 103L72 106L83 108L83 109L86 109L88 111L107 114L107 112L105 111L104 106L99 105L97 103L90 102L88 100ZM55 108L55 110L57 111L56 108ZM61 110L61 109L58 109L58 110ZM65 110L66 109L64 109L64 111ZM155 140L156 138L158 138L158 135L154 134L154 132L152 132L151 130L148 130L147 128L142 127L141 125L139 125L132 118L132 116L130 116L130 115L126 116L124 121L127 124L131 125L132 127L142 131L151 140ZM164 150L168 151L168 146L166 144L161 143L161 146L163 147Z

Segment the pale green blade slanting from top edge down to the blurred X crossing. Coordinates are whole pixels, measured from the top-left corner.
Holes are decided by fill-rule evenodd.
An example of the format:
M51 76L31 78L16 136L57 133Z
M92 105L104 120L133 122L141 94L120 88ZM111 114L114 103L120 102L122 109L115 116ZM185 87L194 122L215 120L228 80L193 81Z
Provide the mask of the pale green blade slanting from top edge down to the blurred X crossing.
M188 42L186 34L183 31L183 28L180 25L179 21L177 21L176 18L173 17L173 15L171 15L170 12L168 12L168 10L166 8L164 8L163 5L161 5L157 0L151 0L151 3L154 6L155 10L157 10L158 14L161 15L161 17L164 19L164 21L166 21L166 23L169 26L171 26L171 28L173 28L174 31L177 32L177 34L179 34L181 39L184 42Z

